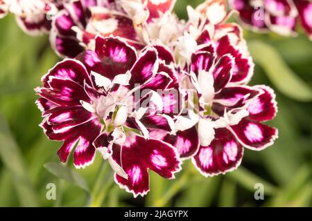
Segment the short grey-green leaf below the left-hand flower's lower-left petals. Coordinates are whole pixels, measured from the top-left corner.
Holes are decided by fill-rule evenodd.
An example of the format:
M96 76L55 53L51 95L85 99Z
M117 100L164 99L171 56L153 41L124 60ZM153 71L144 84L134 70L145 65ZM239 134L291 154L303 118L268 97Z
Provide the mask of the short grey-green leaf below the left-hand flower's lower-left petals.
M44 168L53 175L59 177L60 179L75 184L76 186L89 193L89 187L85 179L79 173L73 171L69 167L64 166L60 163L48 162L44 164Z

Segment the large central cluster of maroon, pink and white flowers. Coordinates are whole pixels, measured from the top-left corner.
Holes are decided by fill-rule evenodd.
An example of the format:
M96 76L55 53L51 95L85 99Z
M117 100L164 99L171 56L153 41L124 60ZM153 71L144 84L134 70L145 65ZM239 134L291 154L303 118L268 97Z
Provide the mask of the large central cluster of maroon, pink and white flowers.
M268 86L247 86L254 64L223 0L188 6L173 0L68 1L53 17L60 61L35 89L61 162L76 168L96 153L128 192L149 191L148 171L174 178L191 159L205 176L236 169L243 147L270 146L277 113Z

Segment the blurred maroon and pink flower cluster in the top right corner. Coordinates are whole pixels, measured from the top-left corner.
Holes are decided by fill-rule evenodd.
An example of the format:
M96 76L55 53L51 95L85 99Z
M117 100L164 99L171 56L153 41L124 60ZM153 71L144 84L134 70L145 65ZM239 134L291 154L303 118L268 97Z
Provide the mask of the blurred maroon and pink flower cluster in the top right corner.
M241 21L252 30L280 35L296 35L296 24L312 40L312 2L310 0L231 0Z

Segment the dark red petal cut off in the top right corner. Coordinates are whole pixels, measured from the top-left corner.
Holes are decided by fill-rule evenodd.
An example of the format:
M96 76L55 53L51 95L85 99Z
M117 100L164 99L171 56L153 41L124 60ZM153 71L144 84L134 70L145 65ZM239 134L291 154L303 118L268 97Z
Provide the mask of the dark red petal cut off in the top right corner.
M307 0L296 0L294 1L302 28L304 28L306 34L309 35L309 38L312 39L312 21L311 21L311 14L312 14L312 3L311 1Z

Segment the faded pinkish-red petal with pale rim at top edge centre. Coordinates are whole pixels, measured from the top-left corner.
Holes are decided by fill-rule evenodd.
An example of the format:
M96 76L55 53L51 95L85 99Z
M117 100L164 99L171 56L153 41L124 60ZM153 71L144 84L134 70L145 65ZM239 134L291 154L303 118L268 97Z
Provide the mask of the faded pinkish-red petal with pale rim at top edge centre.
M147 1L147 8L150 12L150 16L148 17L148 21L153 21L154 18L160 17L160 15L164 14L167 11L171 11L173 6L175 5L176 0L165 0L165 1Z

